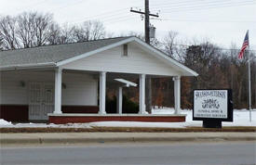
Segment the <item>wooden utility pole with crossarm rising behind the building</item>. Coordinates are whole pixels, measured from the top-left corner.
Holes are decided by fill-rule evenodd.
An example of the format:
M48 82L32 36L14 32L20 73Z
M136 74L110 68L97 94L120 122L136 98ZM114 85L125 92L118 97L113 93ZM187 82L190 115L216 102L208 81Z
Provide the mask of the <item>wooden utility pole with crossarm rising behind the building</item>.
M141 12L141 10L133 10L132 8L130 9L130 12L133 13L139 13L141 15L145 16L145 42L147 44L150 44L150 22L149 22L149 17L156 17L158 18L158 14L151 14L149 12L149 0L145 0L145 11ZM152 105L152 83L151 83L151 78L147 77L146 78L146 111L148 113L151 113L151 105Z

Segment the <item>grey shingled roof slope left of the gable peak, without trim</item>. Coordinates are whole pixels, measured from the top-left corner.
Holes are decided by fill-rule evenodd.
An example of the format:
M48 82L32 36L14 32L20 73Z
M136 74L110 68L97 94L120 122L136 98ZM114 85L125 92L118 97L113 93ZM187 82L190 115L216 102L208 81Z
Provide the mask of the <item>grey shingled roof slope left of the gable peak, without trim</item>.
M31 64L36 65L50 62L57 63L65 59L99 49L103 46L115 44L128 38L130 37L117 37L83 43L54 44L33 48L0 51L0 67Z

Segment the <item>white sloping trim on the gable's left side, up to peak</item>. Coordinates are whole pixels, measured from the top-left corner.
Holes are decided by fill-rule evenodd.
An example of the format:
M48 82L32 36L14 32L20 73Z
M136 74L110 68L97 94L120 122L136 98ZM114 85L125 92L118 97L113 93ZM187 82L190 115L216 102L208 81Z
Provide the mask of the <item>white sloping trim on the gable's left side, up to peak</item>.
M93 51L90 51L88 53L85 53L85 54L82 54L82 55L79 55L79 56L76 56L76 57L71 57L71 58L68 58L68 59L65 59L65 60L62 60L60 62L57 62L57 66L61 66L61 65L65 65L67 63L70 63L70 62L73 62L74 60L78 60L78 59L81 59L81 58L84 58L84 57L89 57L91 55L94 55L94 54L97 54L97 53L100 53L102 51L105 51L105 50L108 50L108 49L111 49L111 48L114 48L115 46L118 46L118 45L121 45L121 44L127 44L131 41L134 41L134 38L135 37L130 37L128 39L125 39L125 40L122 40L120 42L117 42L115 44L109 44L109 45L106 45L106 46L103 46L99 49L96 49L96 50L93 50Z

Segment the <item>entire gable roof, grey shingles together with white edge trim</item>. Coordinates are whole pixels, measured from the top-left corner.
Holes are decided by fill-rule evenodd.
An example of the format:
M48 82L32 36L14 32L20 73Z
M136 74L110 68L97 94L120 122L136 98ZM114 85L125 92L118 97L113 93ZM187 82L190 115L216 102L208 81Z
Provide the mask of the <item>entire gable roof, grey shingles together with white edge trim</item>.
M168 57L150 44L146 44L137 37L116 37L74 44L54 44L32 48L0 51L0 70L30 68L30 67L59 67L84 57L89 57L104 50L121 44L135 42L144 51L167 60L172 66L178 67L184 75L198 74L175 59Z

